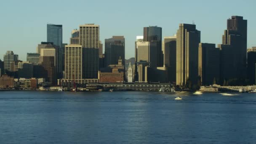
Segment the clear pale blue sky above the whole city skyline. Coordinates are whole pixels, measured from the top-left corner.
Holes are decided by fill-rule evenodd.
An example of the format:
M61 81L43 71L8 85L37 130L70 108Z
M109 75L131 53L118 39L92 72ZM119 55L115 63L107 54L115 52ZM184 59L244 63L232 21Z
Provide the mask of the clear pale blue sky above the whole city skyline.
M255 0L5 0L0 5L0 59L6 51L36 52L46 41L46 24L63 25L63 43L80 24L100 25L100 40L125 36L125 58L134 57L136 35L143 27L163 28L163 37L176 33L179 23L195 21L202 43L221 43L227 19L248 20L248 47L256 46Z

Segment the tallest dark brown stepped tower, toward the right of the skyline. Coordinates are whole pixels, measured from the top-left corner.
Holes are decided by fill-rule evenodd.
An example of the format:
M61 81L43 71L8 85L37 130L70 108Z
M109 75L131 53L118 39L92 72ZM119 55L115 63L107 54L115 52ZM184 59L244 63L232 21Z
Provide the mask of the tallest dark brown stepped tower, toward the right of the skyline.
M229 55L233 55L228 62L232 65L233 74L221 75L222 80L231 78L246 78L247 63L247 20L243 16L232 16L227 20L227 30L222 36L222 45L230 45L231 51ZM222 46L223 47L223 46ZM226 47L226 46L224 46ZM229 47L229 46L227 46ZM225 54L224 54L225 55ZM226 59L221 56L221 59ZM221 60L221 64L223 61ZM228 72L230 69L223 67L221 71Z

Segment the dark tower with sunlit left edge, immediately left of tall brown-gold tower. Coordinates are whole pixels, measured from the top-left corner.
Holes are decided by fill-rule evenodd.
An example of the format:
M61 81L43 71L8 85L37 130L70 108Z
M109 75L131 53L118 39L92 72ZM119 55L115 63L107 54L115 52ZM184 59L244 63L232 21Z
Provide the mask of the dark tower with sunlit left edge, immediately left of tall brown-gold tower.
M176 35L173 37L164 37L163 45L163 62L168 69L168 79L171 82L176 81Z

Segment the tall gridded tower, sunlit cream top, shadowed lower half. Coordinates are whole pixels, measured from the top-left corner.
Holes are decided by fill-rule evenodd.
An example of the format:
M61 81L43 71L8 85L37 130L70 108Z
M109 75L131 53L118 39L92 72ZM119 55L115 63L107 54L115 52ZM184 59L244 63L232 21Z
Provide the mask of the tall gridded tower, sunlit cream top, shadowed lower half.
M79 29L79 45L84 49L85 78L98 78L99 71L99 25L84 24Z

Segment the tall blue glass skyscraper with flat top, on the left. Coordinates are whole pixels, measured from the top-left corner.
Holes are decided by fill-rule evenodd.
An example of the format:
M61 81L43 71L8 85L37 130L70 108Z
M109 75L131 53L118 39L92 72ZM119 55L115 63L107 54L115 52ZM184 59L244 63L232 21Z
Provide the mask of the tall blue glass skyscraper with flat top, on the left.
M62 25L47 24L47 42L53 42L57 50L57 73L58 77L62 76Z

